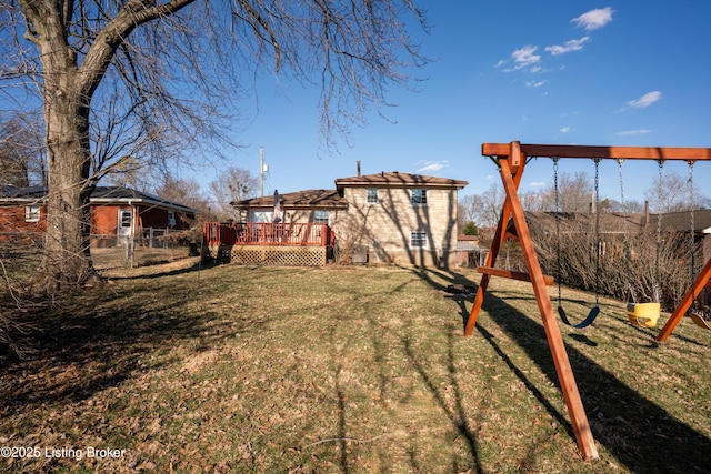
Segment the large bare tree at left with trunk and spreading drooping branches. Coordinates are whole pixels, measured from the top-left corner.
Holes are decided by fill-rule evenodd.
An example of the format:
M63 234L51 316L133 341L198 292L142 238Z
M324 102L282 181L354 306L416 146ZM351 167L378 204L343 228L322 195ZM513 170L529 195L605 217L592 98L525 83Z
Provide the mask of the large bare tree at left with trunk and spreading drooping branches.
M44 117L44 274L91 278L88 204L103 173L223 139L239 85L263 67L321 87L327 145L388 105L423 63L408 17L423 26L411 0L1 0L0 78L39 91Z

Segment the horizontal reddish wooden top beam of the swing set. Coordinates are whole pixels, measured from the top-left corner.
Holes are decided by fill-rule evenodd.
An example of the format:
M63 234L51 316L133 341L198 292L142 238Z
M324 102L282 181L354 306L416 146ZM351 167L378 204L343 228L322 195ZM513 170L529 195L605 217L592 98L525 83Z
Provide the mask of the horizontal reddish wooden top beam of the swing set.
M521 154L531 158L588 158L612 160L711 160L711 148L674 147L593 147L521 143ZM484 157L508 157L511 143L483 143Z

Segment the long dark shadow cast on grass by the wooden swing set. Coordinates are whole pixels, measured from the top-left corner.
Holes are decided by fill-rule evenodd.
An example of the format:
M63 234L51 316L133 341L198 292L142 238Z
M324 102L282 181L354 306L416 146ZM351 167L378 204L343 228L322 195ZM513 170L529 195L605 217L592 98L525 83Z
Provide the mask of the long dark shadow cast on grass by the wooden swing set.
M433 282L427 271L419 273L423 274L423 281ZM473 284L461 274L435 273L450 282ZM442 285L434 283L432 286L441 289ZM469 317L467 303L459 300L458 304L460 314L465 321ZM488 313L488 317L515 340L545 376L560 387L542 323L539 324L527 317L518 309L508 304L504 299L491 293L487 293L482 310ZM525 374L505 356L504 351L494 342L488 331L481 326L478 329L484 340L504 359L517 377L524 383L553 417L561 421L570 435L573 436L568 414L559 413L545 401ZM588 345L597 344L587 335L577 334L571 337ZM477 344L475 339L472 340L472 344ZM567 345L567 351L577 375L578 389L587 407L595 442L604 445L618 462L635 473L711 472L711 458L709 457L711 440L674 418L662 406L640 395L575 347Z

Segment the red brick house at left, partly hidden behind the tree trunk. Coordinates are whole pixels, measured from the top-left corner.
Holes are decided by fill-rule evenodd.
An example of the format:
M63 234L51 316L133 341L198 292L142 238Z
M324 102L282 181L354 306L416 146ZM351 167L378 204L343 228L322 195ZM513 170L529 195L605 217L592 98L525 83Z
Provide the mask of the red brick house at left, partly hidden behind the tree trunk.
M190 229L197 213L178 202L118 186L98 186L90 203L93 245L113 245L152 229ZM0 241L41 241L46 230L46 186L0 186Z

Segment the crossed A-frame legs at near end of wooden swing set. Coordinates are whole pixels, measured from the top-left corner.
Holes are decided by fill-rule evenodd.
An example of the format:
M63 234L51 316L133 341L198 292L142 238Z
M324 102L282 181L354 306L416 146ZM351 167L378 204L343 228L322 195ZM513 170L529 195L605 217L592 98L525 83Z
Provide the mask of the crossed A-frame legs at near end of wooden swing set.
M488 265L493 266L495 262L495 253L499 251L500 244L503 242L503 233L509 220L509 215L513 218L513 224L517 230L519 243L523 252L523 258L529 270L531 283L533 285L533 292L535 294L535 301L543 320L543 327L545 330L545 337L553 356L553 363L555 365L555 372L560 382L561 391L568 406L568 413L570 414L571 424L575 434L575 441L578 447L585 460L597 458L598 448L592 437L590 424L585 410L580 399L580 392L578 391L578 384L568 359L568 352L563 344L563 339L560 333L560 327L553 313L553 306L551 305L550 296L548 295L548 289L543 272L541 271L538 255L531 240L531 234L523 215L523 209L518 195L518 183L521 181L521 174L525 165L525 157L521 153L519 142L511 142L508 157L499 158L501 180L505 191L505 202L501 212L501 220L497 226L497 235L492 244L492 250L488 259ZM477 315L483 303L483 295L489 282L489 275L484 274L477 292L477 299L474 300L474 306L472 307L472 314L467 323L467 330L471 333L473 325L477 321ZM471 326L471 330L470 330ZM467 332L465 332L467 333Z

